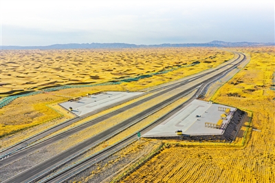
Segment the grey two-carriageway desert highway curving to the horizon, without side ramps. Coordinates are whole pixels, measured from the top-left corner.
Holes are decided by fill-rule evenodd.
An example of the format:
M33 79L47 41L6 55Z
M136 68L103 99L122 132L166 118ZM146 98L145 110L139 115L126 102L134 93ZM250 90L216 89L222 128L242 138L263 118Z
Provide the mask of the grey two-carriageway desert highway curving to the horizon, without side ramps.
M53 158L50 158L49 160L45 160L44 162L41 162L41 164L38 164L36 166L33 166L30 169L27 169L23 173L19 173L18 175L15 175L14 177L10 177L9 180L6 180L4 182L28 182L28 180L32 180L32 177L36 177L41 172L51 170L58 164L61 164L61 162L63 162L63 160L65 158L79 153L79 151L81 149L85 149L85 147L87 147L88 145L95 144L96 142L100 142L100 140L102 140L103 137L108 136L109 134L113 133L114 131L123 129L124 126L129 125L131 122L137 121L141 118L144 118L144 116L148 116L148 114L151 114L151 112L154 111L155 109L159 109L162 106L166 105L166 103L169 103L170 100L175 100L175 98L180 98L181 96L186 94L186 92L188 92L190 89L194 89L195 87L202 85L202 83L210 82L210 80L214 79L216 76L219 76L219 75L223 74L224 72L226 72L230 69L233 69L234 67L236 67L236 65L239 65L239 63L241 63L244 60L245 60L245 55L239 54L238 58L236 58L236 61L234 61L234 64L228 64L223 67L220 67L219 69L214 69L211 72L207 72L205 74L195 76L195 78L193 78L193 79L181 81L178 85L175 85L168 89L164 89L162 92L159 92L153 96L148 97L150 99L144 98L142 100L139 100L136 103L133 103L132 105L129 105L131 107L135 107L137 105L141 105L145 101L151 100L151 99L153 99L157 96L160 96L162 94L166 94L173 89L178 89L178 88L183 89L182 92L180 92L179 94L172 96L172 97L168 98L167 100L164 100L163 102L158 103L157 105L142 111L140 114L132 116L131 118L129 118L127 120L124 120L120 124L115 125L109 129L107 129L106 131L103 131L102 133L99 133L98 135L93 136L92 138L89 138L88 140L85 140L84 142L81 142L78 145L76 145L70 149L67 149L66 151L59 153L58 155L54 156ZM85 129L91 125L94 125L94 124L104 120L104 119L110 118L112 115L119 114L120 112L122 112L126 109L130 109L129 106L122 107L121 109L114 111L115 112L114 114L110 113L109 116L107 114L106 116L102 116L95 120L91 120L90 122L85 123L85 125L77 127L70 131L66 131L65 133L61 133L58 136L54 136L53 138L45 140L45 141L43 141L39 144L36 144L32 147L23 149L22 151L19 151L18 153L14 153L14 155L11 155L9 158L2 160L2 162L3 162L3 164L8 164L10 162L13 162L14 160L18 160L19 158L22 158L24 155L32 153L33 151L36 151L37 149L39 149L41 147L45 147L46 145L51 144L52 142L56 142L56 140L61 140L62 138L65 138L67 136L72 135L73 133L76 133L76 131ZM2 162L1 162L1 165L3 165Z

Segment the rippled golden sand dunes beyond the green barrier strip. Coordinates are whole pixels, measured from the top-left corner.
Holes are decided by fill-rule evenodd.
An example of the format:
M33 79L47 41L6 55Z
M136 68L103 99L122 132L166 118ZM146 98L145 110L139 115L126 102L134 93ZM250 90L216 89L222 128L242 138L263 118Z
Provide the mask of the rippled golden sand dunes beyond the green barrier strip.
M194 56L195 55L195 56ZM52 85L104 83L159 72L194 61L215 66L230 53L214 48L122 50L2 50L0 95ZM5 93L5 94L4 94ZM14 93L14 92L13 92Z

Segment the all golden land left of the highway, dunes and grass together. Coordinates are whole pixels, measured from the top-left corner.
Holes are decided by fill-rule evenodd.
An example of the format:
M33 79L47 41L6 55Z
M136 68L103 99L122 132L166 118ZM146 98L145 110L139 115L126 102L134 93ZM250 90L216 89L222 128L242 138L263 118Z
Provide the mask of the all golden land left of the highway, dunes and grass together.
M140 74L158 72L170 67L178 67L178 65L190 65L194 61L200 61L201 63L131 83L62 89L56 92L17 98L0 110L0 136L3 138L18 131L25 131L25 129L30 127L45 124L45 122L50 122L54 119L62 121L60 119L63 119L62 116L65 114L60 114L47 105L60 103L67 100L67 97L82 96L98 91L125 91L126 89L136 91L146 87L153 87L154 85L167 83L171 80L177 80L184 76L201 72L210 67L216 67L230 60L232 57L232 53L216 48L3 51L1 52L1 65L3 68L1 71L1 83L10 83L10 85L0 87L1 94L3 95L9 89L12 89L10 91L17 89L26 90L28 88L38 89L61 84L58 82L54 84L47 83L47 85L46 83L41 84L40 82L44 82L43 79L41 80L41 77L45 78L45 80L48 80L48 78L51 78L51 80L52 78L63 80L66 78L67 83L65 82L63 85L89 83L84 79L81 82L69 81L73 75L78 76L86 73L89 77L99 76L99 78L90 77L90 81L93 78L93 82L102 83L118 79L117 75L112 74L118 72L118 70L121 72L119 77L133 77ZM20 62L18 62L19 60ZM155 67L156 65L157 67ZM144 67L144 69L140 69L140 67ZM56 68L61 70L57 71ZM113 69L113 71L108 71L109 69ZM35 74L37 78L34 76ZM20 77L17 77L19 75ZM23 77L25 78L23 79ZM24 81L24 83L22 80L28 80L28 82ZM9 94L14 94L14 92ZM45 127L46 125L43 126L43 129ZM43 129L36 130L39 132L43 131ZM26 134L26 138L27 136L28 134Z

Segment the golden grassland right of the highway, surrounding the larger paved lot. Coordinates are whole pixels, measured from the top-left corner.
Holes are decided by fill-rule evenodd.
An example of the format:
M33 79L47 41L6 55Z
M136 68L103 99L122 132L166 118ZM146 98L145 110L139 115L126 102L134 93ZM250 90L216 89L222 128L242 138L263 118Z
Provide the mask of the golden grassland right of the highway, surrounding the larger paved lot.
M275 182L274 47L238 50L251 54L250 63L211 100L253 114L252 126L246 122L242 127L250 137L245 145L166 142L122 182Z

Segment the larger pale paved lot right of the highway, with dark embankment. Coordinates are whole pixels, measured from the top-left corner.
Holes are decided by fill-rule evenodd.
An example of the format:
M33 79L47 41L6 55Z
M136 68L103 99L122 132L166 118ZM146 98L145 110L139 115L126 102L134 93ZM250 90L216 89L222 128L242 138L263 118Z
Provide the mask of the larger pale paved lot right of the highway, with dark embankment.
M221 118L221 114L224 114L224 111L218 111L218 107L230 108L230 114L227 116L228 120L236 110L234 107L193 100L176 114L145 133L143 137L177 136L175 133L177 130L182 130L182 133L187 135L222 134L223 127L228 123L228 120L223 120L221 129L205 127L205 122L217 123ZM201 117L197 118L197 115Z

